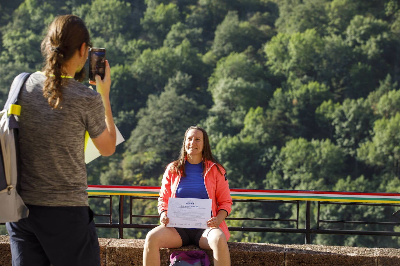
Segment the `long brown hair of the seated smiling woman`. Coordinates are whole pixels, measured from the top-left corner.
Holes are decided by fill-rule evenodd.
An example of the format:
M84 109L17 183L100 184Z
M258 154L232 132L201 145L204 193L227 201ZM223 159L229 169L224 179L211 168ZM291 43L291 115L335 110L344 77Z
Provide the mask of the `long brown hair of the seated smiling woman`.
M189 132L189 130L200 130L201 132L203 132L203 150L202 150L202 157L203 157L203 161L202 161L202 166L203 166L203 171L205 170L205 161L210 161L210 162L214 162L218 171L221 173L221 169L225 168L222 166L222 164L220 164L215 158L214 156L212 156L212 152L211 152L211 147L210 147L210 141L208 140L208 134L206 132L206 130L204 130L204 128L201 128L200 126L190 126L186 132L185 132L185 137L183 138L183 142L182 142L182 148L180 149L180 154L179 154L179 158L178 160L172 162L172 171L176 174L180 174L182 176L186 176L185 173L185 158L188 155L188 153L186 152L185 149L185 143L186 143L186 136Z

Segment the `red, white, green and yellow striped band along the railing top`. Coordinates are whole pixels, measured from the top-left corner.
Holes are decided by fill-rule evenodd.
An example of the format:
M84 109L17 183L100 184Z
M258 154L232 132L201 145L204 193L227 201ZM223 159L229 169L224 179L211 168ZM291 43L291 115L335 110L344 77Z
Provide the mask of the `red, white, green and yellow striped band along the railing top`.
M158 197L160 187L88 185L90 195L126 195ZM267 199L292 201L339 201L364 203L400 203L400 193L280 190L280 189L230 189L232 199Z

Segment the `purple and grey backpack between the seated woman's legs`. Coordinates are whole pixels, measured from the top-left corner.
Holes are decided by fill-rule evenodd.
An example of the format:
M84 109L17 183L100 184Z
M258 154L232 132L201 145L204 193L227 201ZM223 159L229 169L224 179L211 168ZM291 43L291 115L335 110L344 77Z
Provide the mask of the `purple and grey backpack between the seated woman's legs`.
M174 251L170 262L170 266L210 266L207 253L200 250Z

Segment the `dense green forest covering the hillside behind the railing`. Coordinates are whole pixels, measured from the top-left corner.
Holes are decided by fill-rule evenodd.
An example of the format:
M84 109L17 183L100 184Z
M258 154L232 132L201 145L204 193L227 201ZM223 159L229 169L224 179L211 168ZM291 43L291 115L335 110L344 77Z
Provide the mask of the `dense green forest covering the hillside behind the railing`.
M40 42L56 15L80 16L93 45L106 47L126 141L87 165L90 184L159 186L186 128L200 125L232 188L400 191L398 0L0 0L0 10L1 106L14 76L41 69ZM156 214L155 206L134 210ZM327 206L321 215L396 222L396 210ZM235 203L231 214L282 215L295 213ZM230 241L304 243L300 234L231 233ZM312 243L399 247L400 239Z

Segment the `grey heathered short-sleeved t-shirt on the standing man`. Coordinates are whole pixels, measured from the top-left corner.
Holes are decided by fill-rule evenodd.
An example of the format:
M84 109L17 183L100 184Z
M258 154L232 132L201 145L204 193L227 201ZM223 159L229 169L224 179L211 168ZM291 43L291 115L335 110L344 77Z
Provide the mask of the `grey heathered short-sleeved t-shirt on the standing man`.
M96 138L106 129L101 96L68 79L62 109L52 110L42 93L45 79L33 73L18 97L20 195L32 205L88 206L84 138L86 130Z

